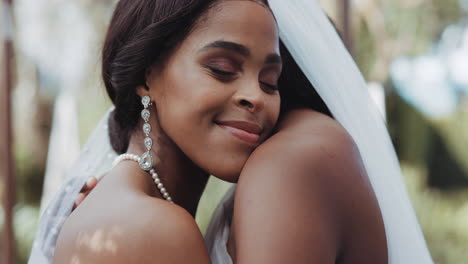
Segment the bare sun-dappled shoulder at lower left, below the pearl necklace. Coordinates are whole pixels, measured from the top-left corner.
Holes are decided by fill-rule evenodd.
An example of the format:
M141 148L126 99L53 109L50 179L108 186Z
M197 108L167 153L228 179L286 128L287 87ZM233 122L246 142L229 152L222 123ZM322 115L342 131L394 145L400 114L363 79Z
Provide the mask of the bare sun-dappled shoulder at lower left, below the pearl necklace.
M183 208L151 197L122 196L104 213L96 212L93 222L67 220L54 262L210 263L202 235Z

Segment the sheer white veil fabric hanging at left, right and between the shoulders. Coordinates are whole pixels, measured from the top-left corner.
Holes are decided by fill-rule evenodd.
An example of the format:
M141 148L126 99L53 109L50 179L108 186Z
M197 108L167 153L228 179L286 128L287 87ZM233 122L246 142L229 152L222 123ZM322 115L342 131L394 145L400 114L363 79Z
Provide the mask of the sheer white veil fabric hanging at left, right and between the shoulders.
M376 193L387 233L389 263L433 263L401 177L385 122L366 83L316 0L270 0L280 37L319 95L356 142ZM99 122L67 181L41 216L28 263L51 263L63 219L90 176L111 168L110 109ZM205 241L213 263L232 263L226 250L234 189L218 206ZM365 224L365 223L363 223Z

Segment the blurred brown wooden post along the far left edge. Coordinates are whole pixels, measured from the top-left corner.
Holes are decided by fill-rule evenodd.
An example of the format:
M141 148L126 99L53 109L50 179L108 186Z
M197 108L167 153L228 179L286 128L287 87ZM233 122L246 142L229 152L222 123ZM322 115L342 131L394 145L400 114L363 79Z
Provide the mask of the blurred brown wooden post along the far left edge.
M3 252L1 260L5 264L15 262L15 239L13 233L13 206L15 204L15 179L13 175L13 138L11 120L11 90L13 87L13 0L3 0L3 72L0 85L0 170L3 178Z

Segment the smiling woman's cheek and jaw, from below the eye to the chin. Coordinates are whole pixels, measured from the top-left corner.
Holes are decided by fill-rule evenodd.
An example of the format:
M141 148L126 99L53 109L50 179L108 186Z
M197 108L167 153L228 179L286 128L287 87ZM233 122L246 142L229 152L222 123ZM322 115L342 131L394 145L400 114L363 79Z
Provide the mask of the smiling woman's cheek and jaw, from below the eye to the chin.
M236 181L250 151L232 144L229 135L213 123L230 103L232 89L202 69L167 75L160 85L163 92L156 105L165 133L197 166Z

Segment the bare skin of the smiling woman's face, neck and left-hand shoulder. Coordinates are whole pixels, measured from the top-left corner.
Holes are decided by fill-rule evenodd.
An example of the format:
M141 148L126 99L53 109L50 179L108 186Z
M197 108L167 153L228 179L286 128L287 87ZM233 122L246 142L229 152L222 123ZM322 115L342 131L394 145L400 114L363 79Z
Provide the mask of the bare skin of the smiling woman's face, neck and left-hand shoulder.
M67 218L54 263L209 263L194 220L200 196L210 174L236 182L271 135L280 73L270 10L254 1L224 1L210 10L164 63L148 69L149 90L136 89L153 100L154 167L175 204L161 199L137 163L124 161ZM260 127L258 142L221 126L232 121ZM135 130L128 152L143 153L143 139Z

